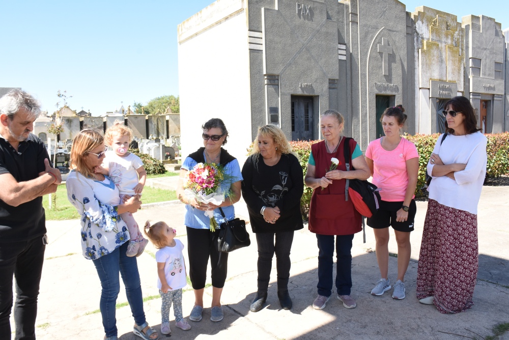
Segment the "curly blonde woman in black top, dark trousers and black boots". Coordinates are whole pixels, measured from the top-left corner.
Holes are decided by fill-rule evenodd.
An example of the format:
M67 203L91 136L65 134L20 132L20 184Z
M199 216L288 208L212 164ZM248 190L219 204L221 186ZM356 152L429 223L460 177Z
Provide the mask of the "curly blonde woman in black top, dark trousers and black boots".
M290 249L294 232L303 228L300 199L304 186L302 166L280 128L271 124L258 128L242 177L242 195L258 244L258 292L250 310L259 311L267 300L274 252L277 297L281 308L290 309Z

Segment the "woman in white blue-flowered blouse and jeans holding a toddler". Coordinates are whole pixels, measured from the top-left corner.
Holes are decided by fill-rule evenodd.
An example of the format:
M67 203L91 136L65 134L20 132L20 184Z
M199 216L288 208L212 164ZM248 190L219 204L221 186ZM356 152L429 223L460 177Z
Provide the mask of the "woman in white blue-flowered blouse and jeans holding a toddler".
M146 340L159 337L149 327L143 310L142 287L135 257L126 256L129 231L121 213L136 212L142 202L131 197L120 202L119 190L108 176L95 173L104 158L104 137L98 130L84 129L74 137L72 172L67 177L67 198L81 216L83 256L93 260L101 280L100 309L106 340L117 340L115 305L120 291L119 273L126 287L134 317L134 334Z

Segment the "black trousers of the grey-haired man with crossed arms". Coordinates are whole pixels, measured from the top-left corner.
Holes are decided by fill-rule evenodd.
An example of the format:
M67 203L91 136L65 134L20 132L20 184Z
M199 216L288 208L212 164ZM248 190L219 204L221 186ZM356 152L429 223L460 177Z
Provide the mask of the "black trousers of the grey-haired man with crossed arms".
M16 277L15 339L35 339L37 297L45 249L42 236L29 241L0 242L0 339L11 338L9 318L13 304L13 276Z

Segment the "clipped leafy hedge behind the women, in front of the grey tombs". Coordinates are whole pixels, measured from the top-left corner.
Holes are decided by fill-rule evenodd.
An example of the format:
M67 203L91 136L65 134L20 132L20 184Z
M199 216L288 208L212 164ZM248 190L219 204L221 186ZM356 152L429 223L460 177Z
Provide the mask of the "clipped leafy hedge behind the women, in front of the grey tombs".
M405 138L415 144L419 153L419 177L417 179L417 197L426 196L425 189L422 189L426 182L426 165L431 157L433 148L440 134L416 134L405 135ZM509 176L509 133L487 134L488 145L486 147L488 153L487 178L497 178L500 176ZM300 165L304 171L307 170L307 160L311 152L311 146L318 143L319 140L312 141L291 141L294 152L298 155ZM248 152L251 147L248 148ZM304 194L302 195L300 209L302 216L307 219L309 213L309 202L313 190L304 185Z

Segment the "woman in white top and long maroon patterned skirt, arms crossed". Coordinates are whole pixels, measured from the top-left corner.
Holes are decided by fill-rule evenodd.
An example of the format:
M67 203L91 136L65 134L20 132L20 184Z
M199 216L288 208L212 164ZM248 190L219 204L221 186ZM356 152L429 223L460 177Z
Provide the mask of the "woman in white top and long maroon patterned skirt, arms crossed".
M477 278L477 204L486 176L486 137L465 97L445 104L445 139L428 163L433 178L417 269L417 298L440 313L472 307Z

